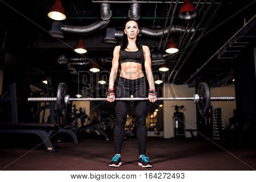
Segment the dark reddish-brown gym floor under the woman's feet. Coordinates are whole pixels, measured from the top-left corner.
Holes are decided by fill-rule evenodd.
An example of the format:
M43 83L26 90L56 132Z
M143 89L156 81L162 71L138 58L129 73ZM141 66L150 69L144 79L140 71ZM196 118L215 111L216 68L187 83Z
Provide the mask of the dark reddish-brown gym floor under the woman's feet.
M114 154L113 140L82 139L79 144L53 143L57 152L45 152L44 146L28 152L35 145L19 148L6 144L0 146L0 168L3 170L253 170L256 168L255 148L225 147L225 151L207 140L148 137L146 155L150 157L153 168L138 166L138 143L134 138L123 141L122 166L119 168L108 166Z

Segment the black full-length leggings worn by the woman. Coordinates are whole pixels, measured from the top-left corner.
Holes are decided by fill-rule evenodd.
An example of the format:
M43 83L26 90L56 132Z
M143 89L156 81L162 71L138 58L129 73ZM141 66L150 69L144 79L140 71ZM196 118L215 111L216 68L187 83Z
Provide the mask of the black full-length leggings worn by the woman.
M116 98L123 97L147 97L147 85L145 76L130 80L124 77L119 77ZM121 154L123 137L125 135L125 123L127 120L127 111L130 101L116 101L115 114L117 121L114 128L114 147L115 154ZM145 154L147 144L147 127L146 127L146 112L148 101L135 101L135 120L137 123L137 139L139 144L139 155Z

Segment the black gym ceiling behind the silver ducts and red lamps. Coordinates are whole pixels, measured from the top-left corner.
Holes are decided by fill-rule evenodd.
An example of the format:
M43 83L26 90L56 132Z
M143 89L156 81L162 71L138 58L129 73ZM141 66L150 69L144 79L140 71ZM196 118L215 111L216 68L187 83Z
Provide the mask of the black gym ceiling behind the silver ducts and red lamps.
M98 2L74 0L62 0L61 2L67 15L67 19L63 21L64 24L85 26L101 20L100 3ZM171 6L171 1L161 2L141 3L141 18L139 19L141 27L161 29L164 28L166 20L167 26L170 25L171 15L167 19L167 11ZM196 18L191 20L178 18L177 14L182 5L182 3L179 3L177 10L174 12L172 25L185 27L191 27L192 25L200 26L200 30L195 35L188 33L170 34L179 46L180 51L175 55L164 57L166 64L170 67L170 71L164 73L165 82L184 84L197 71L197 68L201 67L210 56L255 14L255 3L253 3L255 1L253 0L217 0L214 1L213 6L208 12L208 7L212 1L192 0L192 2L194 6L197 6L196 11L199 13ZM77 75L70 73L67 65L57 63L60 55L69 58L84 57L90 61L96 61L103 68L102 70L106 71L106 75L109 74L113 48L120 44L120 40L117 44L105 43L103 38L106 34L106 27L89 35L64 34L63 39L55 38L48 33L51 30L53 21L47 16L48 10L54 1L0 1L0 3L1 27L20 37L19 41L25 40L27 43L28 59L31 60L32 66L31 73L34 74L31 77L31 82L40 82L39 80L42 79L43 75L48 75L52 77L52 80L56 80L56 82L63 80L67 82L68 79L70 85L77 85L77 81L75 81L77 80ZM251 5L246 7L250 3ZM113 14L111 22L107 27L123 30L123 23L128 18L127 12L130 3L110 3L110 5ZM242 10L243 7L246 7L246 9ZM172 6L173 9L174 6ZM172 10L171 14L173 13ZM230 18L231 16L233 17ZM189 40L192 35L192 40ZM84 40L85 46L88 49L88 53L84 55L77 55L77 53L73 52L73 47L75 47L79 38ZM142 44L150 47L151 54L159 54L160 56L166 54L163 51L164 40L166 40L166 37L163 37L162 45L159 46L160 38L141 37ZM190 46L188 46L189 41L192 43ZM4 57L4 52L1 52L1 55L1 57ZM214 80L216 76L222 75L222 77L225 77L232 74L232 64L230 65L230 62L219 62L217 59L213 59L209 65L196 75L195 78L203 76L203 80L209 82ZM158 67L159 65L152 66L153 73L158 71ZM77 66L76 69L77 71L88 71L89 65ZM195 78L189 82L193 82ZM76 90L77 86L75 86L73 91L76 92Z

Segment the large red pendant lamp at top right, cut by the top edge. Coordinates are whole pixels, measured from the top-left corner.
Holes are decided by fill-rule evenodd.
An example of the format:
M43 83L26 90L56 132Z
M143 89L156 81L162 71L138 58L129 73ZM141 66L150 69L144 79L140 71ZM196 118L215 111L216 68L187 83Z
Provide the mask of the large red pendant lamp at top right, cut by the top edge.
M180 7L179 18L192 19L196 17L196 15L195 7L192 5L190 0L184 0L184 4Z

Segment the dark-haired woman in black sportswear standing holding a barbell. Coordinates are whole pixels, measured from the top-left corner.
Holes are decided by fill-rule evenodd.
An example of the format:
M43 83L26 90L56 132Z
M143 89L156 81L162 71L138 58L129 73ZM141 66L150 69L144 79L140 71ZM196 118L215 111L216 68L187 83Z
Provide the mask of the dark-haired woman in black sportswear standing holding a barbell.
M142 46L137 35L139 34L139 25L135 20L128 20L125 24L125 30L121 46L116 46L113 53L112 69L109 76L109 89L107 100L113 102L115 97L148 97L150 102L155 102L156 92L154 77L151 71L150 49ZM118 80L117 90L114 90L114 81L117 76L118 66L121 64L121 73ZM149 89L147 92L146 78L142 72L144 63ZM148 95L148 96L147 96ZM115 155L110 162L110 167L121 166L121 147L124 137L125 123L127 119L127 110L129 101L117 101L115 105L115 114L117 121L114 128L114 148ZM145 156L147 143L146 111L148 101L135 101L135 120L137 122L137 139L139 143L139 166L152 167Z

